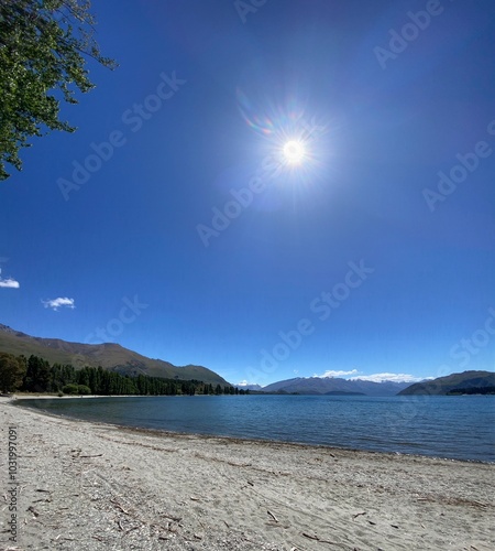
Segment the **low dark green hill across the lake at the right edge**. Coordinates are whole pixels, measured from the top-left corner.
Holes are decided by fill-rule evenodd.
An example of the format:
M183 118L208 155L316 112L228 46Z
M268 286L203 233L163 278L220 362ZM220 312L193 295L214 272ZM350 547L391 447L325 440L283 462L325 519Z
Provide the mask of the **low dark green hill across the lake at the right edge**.
M455 390L483 389L495 387L495 372L463 371L447 377L439 377L431 381L416 382L399 392L400 396L431 395L441 396Z

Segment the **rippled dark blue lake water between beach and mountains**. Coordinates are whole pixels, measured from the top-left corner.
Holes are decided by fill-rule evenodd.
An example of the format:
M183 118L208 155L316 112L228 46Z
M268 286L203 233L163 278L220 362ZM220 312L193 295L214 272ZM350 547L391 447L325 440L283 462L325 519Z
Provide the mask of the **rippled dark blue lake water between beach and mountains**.
M495 462L495 396L54 398L22 406L165 431Z

